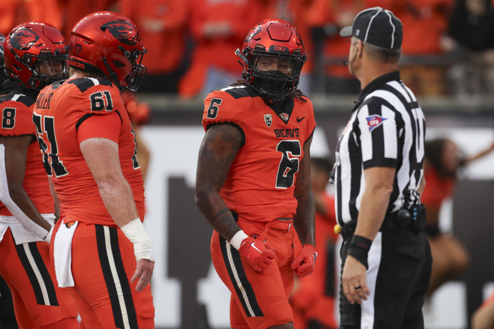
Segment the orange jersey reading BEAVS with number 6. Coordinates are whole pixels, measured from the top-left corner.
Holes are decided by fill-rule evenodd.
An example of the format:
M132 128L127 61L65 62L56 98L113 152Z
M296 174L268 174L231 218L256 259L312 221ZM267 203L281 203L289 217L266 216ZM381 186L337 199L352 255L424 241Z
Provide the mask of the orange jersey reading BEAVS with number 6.
M224 88L204 100L206 131L213 124L226 123L238 127L244 136L220 191L239 217L267 222L295 214L296 173L315 127L312 103L304 99L287 98L280 114L288 117L286 123L250 87Z

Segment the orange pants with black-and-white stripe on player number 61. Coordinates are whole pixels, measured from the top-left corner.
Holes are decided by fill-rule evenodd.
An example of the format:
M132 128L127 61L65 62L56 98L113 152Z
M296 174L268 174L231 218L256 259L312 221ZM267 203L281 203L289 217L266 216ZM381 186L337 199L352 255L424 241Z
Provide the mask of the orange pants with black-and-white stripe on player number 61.
M72 294L86 328L154 328L151 286L135 290L135 267L134 245L120 229L79 222L72 240L75 285L63 289Z

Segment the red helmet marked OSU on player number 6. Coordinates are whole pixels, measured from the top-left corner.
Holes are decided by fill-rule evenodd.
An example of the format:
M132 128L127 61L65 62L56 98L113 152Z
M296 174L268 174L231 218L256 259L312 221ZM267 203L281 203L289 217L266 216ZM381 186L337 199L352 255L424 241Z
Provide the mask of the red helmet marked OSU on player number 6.
M290 23L278 19L264 20L252 28L242 51L237 49L236 54L243 62L243 78L261 96L275 102L295 92L306 61L300 34ZM283 61L289 70L260 70L260 59Z

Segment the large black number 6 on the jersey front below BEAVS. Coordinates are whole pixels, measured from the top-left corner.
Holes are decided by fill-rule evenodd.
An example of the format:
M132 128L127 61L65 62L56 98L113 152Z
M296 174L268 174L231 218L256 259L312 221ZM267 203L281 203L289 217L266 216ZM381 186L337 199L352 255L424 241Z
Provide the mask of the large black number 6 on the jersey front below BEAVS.
M295 173L298 171L298 157L301 156L300 142L298 140L282 140L276 145L276 151L283 153L279 161L276 188L288 189L292 187Z

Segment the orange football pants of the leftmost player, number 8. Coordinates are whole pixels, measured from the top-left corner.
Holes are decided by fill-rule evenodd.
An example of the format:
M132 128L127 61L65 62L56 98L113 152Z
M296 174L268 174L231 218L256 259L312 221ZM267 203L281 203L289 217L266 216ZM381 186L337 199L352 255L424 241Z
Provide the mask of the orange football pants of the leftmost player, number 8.
M21 329L76 329L72 297L57 285L46 242L15 245L10 228L0 242L0 275L12 292Z

